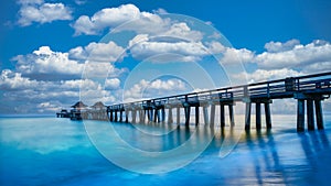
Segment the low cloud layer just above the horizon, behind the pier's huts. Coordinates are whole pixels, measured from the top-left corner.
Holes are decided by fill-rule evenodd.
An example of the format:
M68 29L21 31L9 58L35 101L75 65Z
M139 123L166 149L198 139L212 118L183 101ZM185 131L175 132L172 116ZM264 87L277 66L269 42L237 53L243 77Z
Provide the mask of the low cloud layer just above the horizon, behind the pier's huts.
M117 80L113 80L113 88ZM107 103L118 98L111 91L105 90L103 85L90 79L72 80L34 80L22 77L20 73L4 69L0 75L0 88L3 90L0 101L7 102L7 108L1 109L6 113L54 113L55 109L68 108L82 98L87 105L96 101Z

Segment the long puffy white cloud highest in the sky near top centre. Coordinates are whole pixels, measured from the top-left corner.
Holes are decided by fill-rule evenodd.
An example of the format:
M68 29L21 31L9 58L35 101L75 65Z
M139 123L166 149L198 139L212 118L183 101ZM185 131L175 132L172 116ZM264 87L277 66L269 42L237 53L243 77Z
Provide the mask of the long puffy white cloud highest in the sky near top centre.
M105 29L111 29L114 32L134 31L137 34L171 36L186 41L202 39L203 34L191 30L186 23L169 18L163 19L156 13L159 12L141 12L134 4L122 4L118 8L103 9L90 18L82 15L72 26L75 29L76 35L96 35Z

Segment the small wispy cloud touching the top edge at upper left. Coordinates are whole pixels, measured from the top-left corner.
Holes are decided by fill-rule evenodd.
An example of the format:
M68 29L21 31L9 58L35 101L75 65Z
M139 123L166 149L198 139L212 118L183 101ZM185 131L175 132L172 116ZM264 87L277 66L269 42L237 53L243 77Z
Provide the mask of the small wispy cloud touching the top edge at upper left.
M72 11L63 3L45 3L43 0L21 0L19 24L28 26L33 22L50 23L56 20L72 20Z

